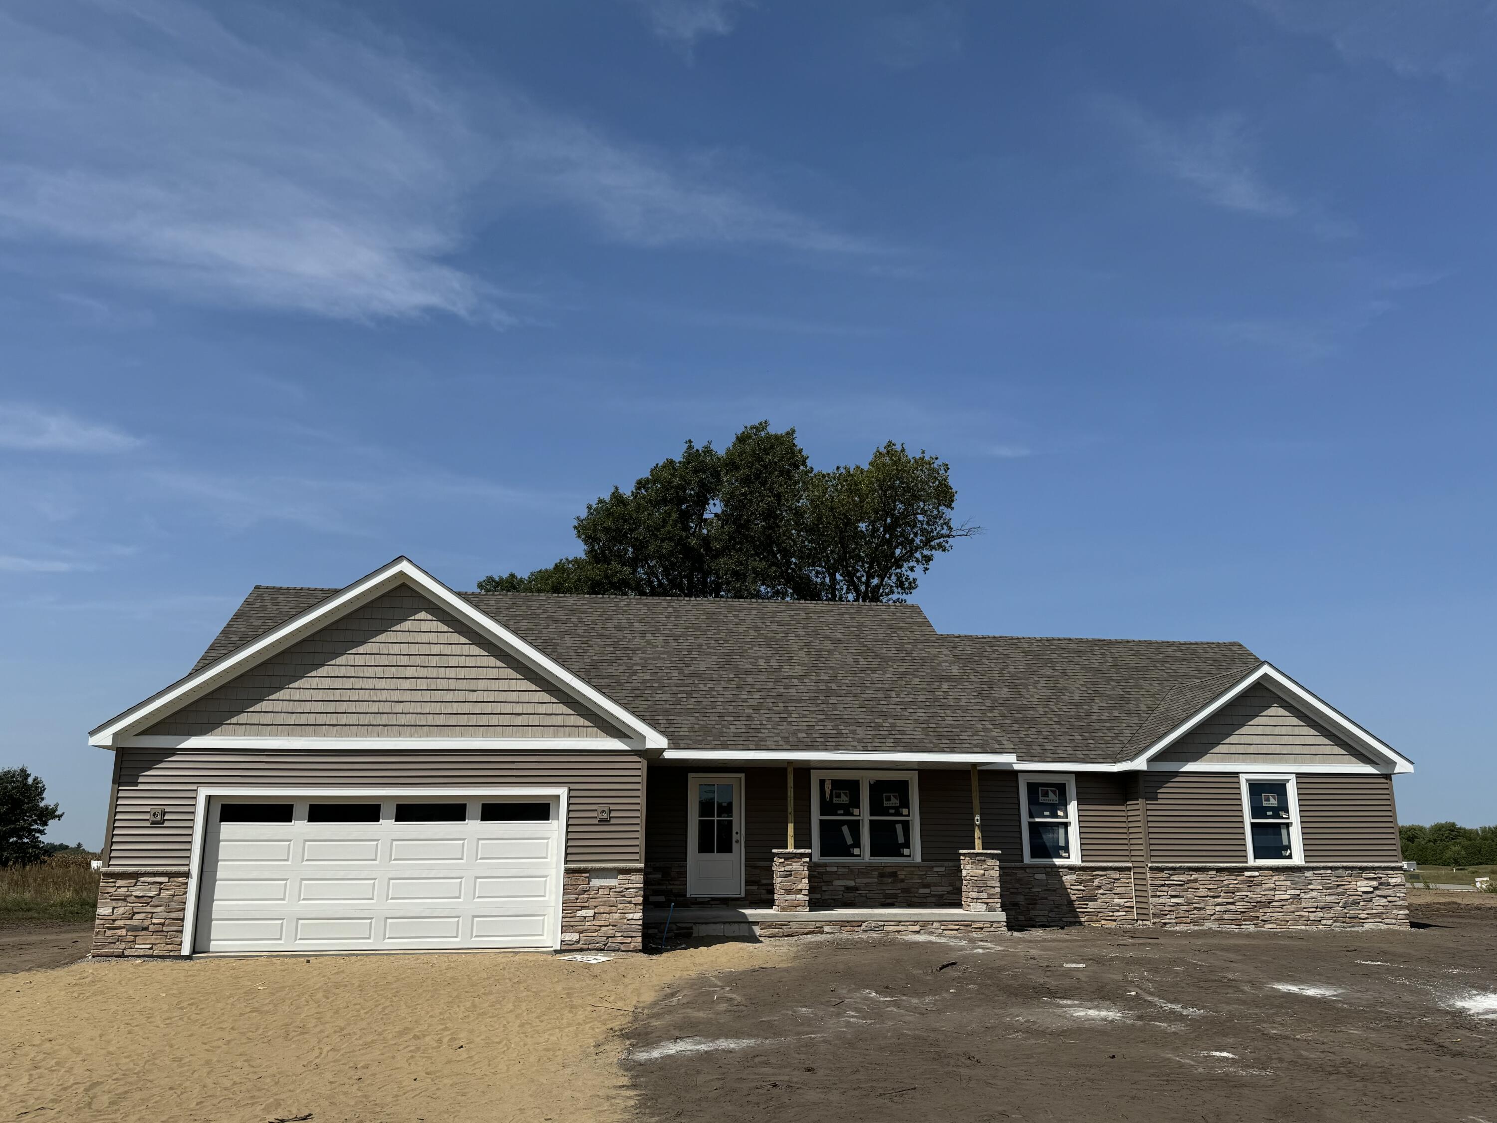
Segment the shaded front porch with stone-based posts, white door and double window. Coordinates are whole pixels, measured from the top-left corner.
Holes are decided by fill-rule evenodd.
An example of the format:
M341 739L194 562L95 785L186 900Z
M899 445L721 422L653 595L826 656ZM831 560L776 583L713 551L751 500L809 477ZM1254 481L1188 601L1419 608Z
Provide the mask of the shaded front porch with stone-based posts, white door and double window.
M704 934L1004 925L981 822L994 792L975 765L713 765L650 768L647 928L668 916Z

